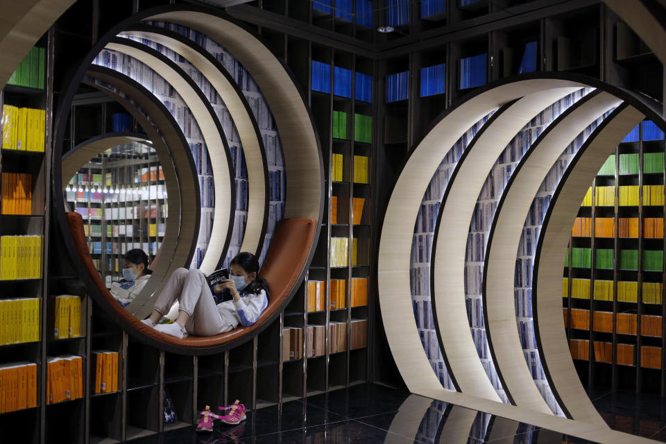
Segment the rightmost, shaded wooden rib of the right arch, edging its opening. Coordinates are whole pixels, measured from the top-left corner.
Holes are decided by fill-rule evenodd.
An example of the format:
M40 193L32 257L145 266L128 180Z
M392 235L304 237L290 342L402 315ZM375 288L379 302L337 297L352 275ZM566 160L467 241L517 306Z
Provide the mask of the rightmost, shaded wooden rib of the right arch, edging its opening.
M585 395L571 359L562 317L562 269L571 227L592 178L613 148L644 117L632 106L622 105L583 144L548 207L534 260L532 306L545 373L560 405L575 420L592 424L601 425L604 420Z

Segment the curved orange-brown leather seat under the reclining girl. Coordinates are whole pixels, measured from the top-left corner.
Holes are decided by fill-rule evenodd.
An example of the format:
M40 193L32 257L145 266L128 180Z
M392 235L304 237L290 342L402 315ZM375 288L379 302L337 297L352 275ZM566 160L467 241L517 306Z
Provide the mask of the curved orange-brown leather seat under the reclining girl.
M81 259L85 270L96 284L99 293L112 307L118 307L120 316L126 319L137 330L153 336L160 341L181 347L212 347L221 345L241 336L250 334L257 330L271 314L282 305L282 302L289 296L291 289L296 285L300 272L305 266L307 257L310 253L310 247L314 241L316 232L316 221L314 219L282 219L273 234L271 248L268 249L266 260L262 269L259 271L271 289L271 298L268 301L268 307L264 310L257 322L249 327L234 328L230 332L218 334L216 336L186 336L183 339L177 339L167 334L162 334L140 322L129 311L120 309L120 305L114 299L112 294L106 288L99 272L95 268L92 257L85 241L85 232L83 231L83 218L76 212L67 213L67 222L69 223L69 232L76 251Z

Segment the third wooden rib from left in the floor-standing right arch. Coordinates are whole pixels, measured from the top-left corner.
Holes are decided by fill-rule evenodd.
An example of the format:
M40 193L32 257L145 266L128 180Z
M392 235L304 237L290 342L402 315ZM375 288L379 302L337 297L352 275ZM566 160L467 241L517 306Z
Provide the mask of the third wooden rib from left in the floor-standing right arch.
M486 244L484 321L497 374L518 407L550 411L533 382L516 328L515 257L524 221L541 183L565 148L592 121L620 102L607 92L592 92L574 103L533 142L497 204Z

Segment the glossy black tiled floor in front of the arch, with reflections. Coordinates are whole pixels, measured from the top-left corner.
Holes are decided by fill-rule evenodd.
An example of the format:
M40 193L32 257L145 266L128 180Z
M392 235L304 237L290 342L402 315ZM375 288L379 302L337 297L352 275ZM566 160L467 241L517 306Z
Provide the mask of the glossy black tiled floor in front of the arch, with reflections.
M361 384L247 412L237 426L214 432L194 427L148 436L133 444L221 443L590 443L407 391Z

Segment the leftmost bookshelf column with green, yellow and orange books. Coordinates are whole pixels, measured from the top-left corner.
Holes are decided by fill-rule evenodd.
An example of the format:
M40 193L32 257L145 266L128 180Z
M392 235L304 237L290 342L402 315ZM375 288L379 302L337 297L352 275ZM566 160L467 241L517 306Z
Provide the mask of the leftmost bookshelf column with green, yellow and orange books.
M3 308L1 378L6 396L0 427L12 422L39 427L46 409L46 357L58 353L46 280L51 169L46 126L53 89L46 83L52 33L37 39L0 92L0 304ZM79 300L80 301L80 300ZM80 325L80 324L79 324ZM61 336L67 337L67 332ZM67 341L63 339L62 341ZM76 341L76 339L74 340ZM18 439L17 434L13 434ZM35 442L28 433L28 441ZM12 438L12 433L8 435ZM25 439L25 437L23 438Z

